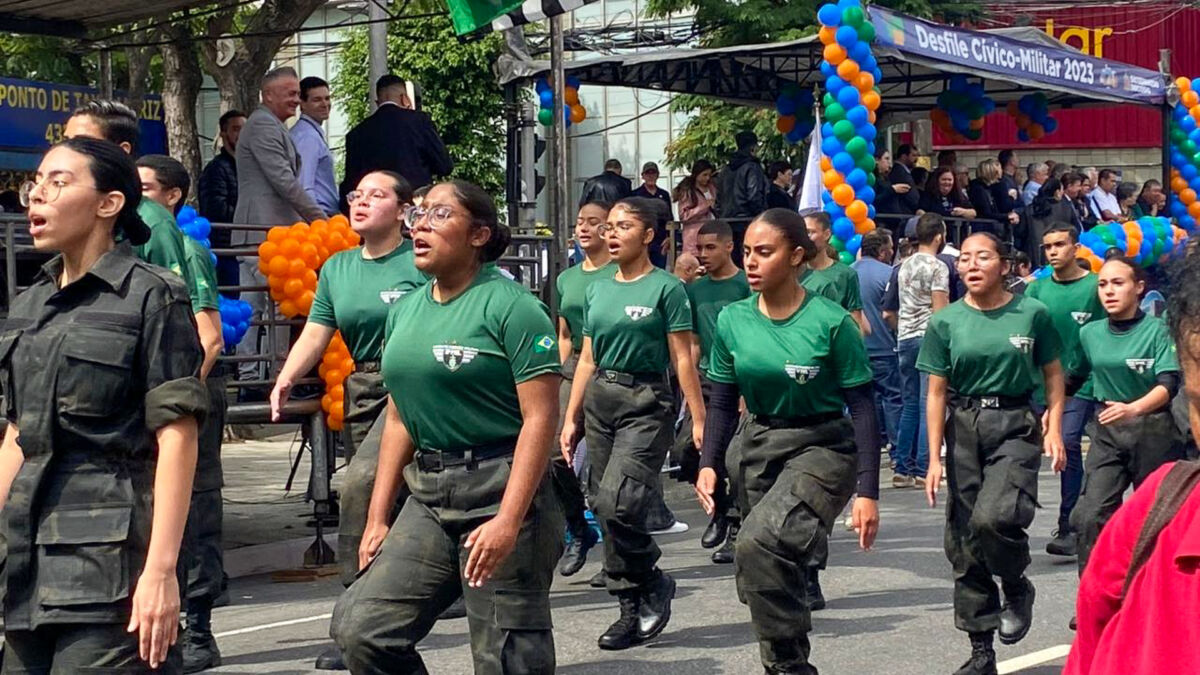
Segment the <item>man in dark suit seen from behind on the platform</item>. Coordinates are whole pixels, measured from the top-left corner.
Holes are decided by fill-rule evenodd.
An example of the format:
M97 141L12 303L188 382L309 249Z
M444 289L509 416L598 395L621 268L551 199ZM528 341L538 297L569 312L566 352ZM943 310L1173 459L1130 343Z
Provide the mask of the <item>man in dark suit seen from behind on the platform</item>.
M416 189L454 169L433 120L413 109L403 79L380 77L376 98L379 108L346 135L346 178L338 190L342 210L347 210L346 195L373 171L394 171Z

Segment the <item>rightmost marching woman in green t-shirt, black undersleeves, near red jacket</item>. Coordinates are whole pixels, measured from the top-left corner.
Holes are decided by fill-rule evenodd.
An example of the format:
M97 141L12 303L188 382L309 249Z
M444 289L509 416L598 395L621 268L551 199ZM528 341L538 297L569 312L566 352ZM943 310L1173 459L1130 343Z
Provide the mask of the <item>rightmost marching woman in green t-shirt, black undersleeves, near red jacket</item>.
M1068 390L1091 378L1098 411L1088 428L1087 480L1072 512L1079 530L1079 573L1126 489L1135 489L1159 466L1183 459L1183 436L1171 417L1180 390L1180 363L1166 323L1139 307L1146 270L1128 258L1100 268L1099 299L1108 321L1080 330L1081 358L1068 374Z

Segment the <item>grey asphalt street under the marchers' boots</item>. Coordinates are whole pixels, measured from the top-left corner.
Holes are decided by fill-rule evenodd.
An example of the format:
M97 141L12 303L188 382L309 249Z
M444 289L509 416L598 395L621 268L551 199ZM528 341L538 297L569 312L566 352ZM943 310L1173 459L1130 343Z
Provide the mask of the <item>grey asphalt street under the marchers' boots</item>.
M884 485L890 474L883 471ZM660 566L678 581L671 623L650 644L602 652L599 634L617 617L616 602L587 580L600 566L594 549L580 574L557 578L552 602L558 671L569 675L620 673L698 675L755 674L758 649L749 611L734 591L733 567L716 566L700 546L707 518L690 488L671 483L668 503L691 530L660 537ZM944 488L942 495L944 496ZM1058 506L1058 479L1043 470L1038 510L1031 528L1037 586L1034 627L1014 646L1000 646L1001 673L1049 675L1062 669L1073 633L1075 566L1054 558L1044 545ZM859 551L840 527L830 542L830 567L822 585L828 608L814 615L812 663L823 675L950 674L970 645L954 629L950 567L942 552L943 510L930 509L918 490L882 491L881 530L870 552ZM341 591L336 578L278 583L265 577L234 579L233 604L217 609L214 629L224 663L209 673L299 675L329 644L329 613ZM420 645L433 674L472 671L464 619L439 622Z

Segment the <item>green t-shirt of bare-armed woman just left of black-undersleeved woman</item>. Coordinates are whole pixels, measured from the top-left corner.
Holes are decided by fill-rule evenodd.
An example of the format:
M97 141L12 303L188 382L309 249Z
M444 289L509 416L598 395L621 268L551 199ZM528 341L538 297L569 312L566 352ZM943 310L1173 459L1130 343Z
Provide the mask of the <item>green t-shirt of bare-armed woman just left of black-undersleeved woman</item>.
M666 372L668 333L691 330L683 281L654 268L637 281L598 279L583 303L583 335L592 338L596 368L631 374Z

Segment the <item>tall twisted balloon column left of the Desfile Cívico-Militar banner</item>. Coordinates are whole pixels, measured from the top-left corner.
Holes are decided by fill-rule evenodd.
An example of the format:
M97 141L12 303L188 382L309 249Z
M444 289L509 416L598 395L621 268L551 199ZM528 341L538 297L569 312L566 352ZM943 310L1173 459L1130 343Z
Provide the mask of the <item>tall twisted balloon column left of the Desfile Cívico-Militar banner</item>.
M859 0L822 5L817 20L826 77L821 201L833 221L829 244L850 264L863 234L875 229L875 120L881 102L876 83L882 73L871 53L875 26Z

